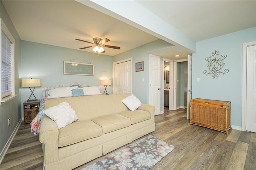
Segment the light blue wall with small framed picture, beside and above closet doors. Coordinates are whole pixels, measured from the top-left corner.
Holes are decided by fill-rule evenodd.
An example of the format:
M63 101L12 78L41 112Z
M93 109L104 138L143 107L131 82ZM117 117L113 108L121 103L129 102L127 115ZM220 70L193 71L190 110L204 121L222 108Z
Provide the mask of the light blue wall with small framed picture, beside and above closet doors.
M132 58L132 93L142 103L149 104L149 54L154 51L165 49L171 46L172 45L170 43L158 39L156 41L147 43L145 45L131 49L113 57L113 62ZM140 61L144 61L144 71L135 72L135 63L138 63ZM145 82L142 82L142 78L145 78Z

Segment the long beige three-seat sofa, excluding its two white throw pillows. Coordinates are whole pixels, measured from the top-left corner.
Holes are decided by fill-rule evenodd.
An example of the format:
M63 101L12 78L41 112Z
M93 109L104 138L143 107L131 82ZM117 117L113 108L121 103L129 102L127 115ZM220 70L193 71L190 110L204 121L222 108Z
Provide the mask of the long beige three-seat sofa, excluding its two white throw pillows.
M72 169L155 130L155 107L142 104L130 111L121 100L130 94L111 94L46 100L45 109L68 102L78 120L58 129L44 115L40 142L44 169ZM96 123L95 123L96 122Z

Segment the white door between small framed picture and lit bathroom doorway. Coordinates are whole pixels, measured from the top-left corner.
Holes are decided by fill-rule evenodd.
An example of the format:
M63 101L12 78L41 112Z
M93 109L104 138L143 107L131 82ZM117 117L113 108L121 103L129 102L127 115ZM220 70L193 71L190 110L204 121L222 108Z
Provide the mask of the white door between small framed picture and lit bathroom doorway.
M160 71L162 71L160 66L160 57L150 54L150 105L156 107L155 115L160 114Z

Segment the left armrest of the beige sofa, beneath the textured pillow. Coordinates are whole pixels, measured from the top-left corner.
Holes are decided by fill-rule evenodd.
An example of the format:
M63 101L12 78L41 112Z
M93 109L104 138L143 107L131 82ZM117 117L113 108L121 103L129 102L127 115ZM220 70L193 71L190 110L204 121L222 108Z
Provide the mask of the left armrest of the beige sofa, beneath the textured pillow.
M55 121L44 115L42 117L39 133L39 141L44 151L44 164L57 161L59 129Z

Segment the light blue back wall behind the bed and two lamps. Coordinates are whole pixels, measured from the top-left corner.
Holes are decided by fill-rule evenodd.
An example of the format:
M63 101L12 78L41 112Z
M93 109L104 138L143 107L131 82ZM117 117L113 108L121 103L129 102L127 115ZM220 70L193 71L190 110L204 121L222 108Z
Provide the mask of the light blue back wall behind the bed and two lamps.
M94 76L63 74L63 61L94 64ZM34 91L38 99L42 99L42 88L46 86L67 84L74 81L100 86L101 69L107 70L107 79L112 81L112 67L112 57L107 55L98 56L97 53L22 41L21 78L41 79L42 87L36 88ZM104 86L100 86L100 88L100 92L103 93ZM112 87L108 86L107 91L112 94ZM29 88L22 88L22 101L28 100L30 94Z

